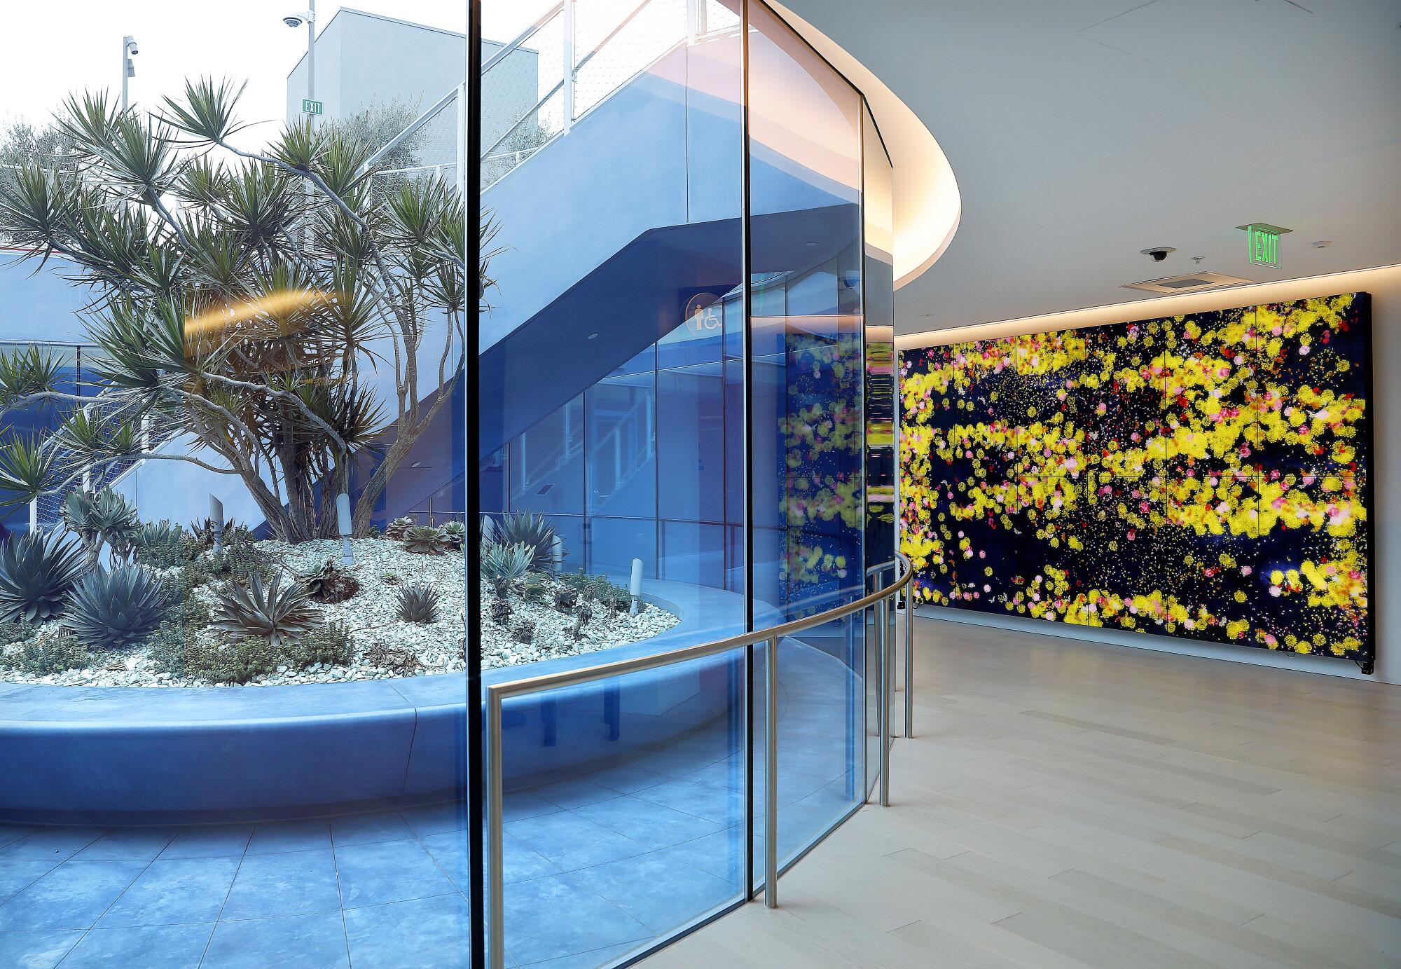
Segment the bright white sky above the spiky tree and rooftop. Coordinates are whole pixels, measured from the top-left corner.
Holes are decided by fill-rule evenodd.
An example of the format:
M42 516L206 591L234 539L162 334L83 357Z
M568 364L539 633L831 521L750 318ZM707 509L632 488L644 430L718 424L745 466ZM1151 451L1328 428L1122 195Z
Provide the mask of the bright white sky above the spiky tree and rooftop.
M287 73L307 50L305 28L283 15L307 0L7 0L0 56L0 123L42 123L73 91L106 88L120 97L122 38L140 53L130 78L133 104L158 106L186 77L247 80L240 116L263 122L248 134L269 140L286 111ZM317 22L342 4L319 0ZM354 10L453 31L465 29L464 0L356 0ZM482 34L510 41L553 4L549 0L483 0Z

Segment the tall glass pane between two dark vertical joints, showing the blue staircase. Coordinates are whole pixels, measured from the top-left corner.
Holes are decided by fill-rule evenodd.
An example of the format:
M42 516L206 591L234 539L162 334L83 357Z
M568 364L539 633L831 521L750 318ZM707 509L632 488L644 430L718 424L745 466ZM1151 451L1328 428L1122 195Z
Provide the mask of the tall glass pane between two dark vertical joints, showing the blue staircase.
M509 175L483 162L482 511L489 556L524 522L559 555L518 583L483 557L485 686L747 620L744 546L727 541L745 521L727 487L744 470L741 374L726 367L727 340L744 347L741 35L695 14L581 0L553 15L559 48L513 55L539 59L537 101L560 113ZM507 959L605 965L744 899L744 664L740 650L504 703Z

